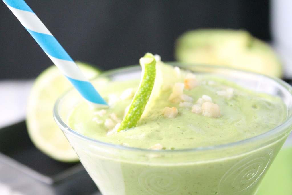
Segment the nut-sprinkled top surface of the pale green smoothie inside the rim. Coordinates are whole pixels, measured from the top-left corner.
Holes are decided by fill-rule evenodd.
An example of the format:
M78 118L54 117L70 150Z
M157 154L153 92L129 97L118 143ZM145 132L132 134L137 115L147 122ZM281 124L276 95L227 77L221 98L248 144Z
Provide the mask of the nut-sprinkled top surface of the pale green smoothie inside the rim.
M159 74L150 101L136 127L115 132L138 89L139 79L109 81L98 87L109 108L90 109L81 101L68 118L69 127L107 143L176 150L248 139L272 130L286 119L286 106L278 97L244 89L222 77L192 74L161 62L157 66ZM181 86L183 91L178 92ZM202 111L205 102L209 102L207 107L215 107Z

